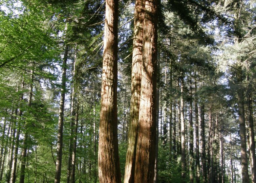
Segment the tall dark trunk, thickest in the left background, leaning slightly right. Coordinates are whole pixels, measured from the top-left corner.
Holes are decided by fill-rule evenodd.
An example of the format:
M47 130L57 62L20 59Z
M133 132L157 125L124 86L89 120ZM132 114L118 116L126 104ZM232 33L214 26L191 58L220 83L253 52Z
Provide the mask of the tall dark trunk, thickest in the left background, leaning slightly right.
M62 78L61 78L61 93L59 104L59 120L58 120L58 137L57 137L57 157L56 157L56 170L54 183L60 183L61 163L62 163L62 145L63 145L63 116L64 116L64 103L66 93L66 70L68 60L68 46L65 46L65 52L62 63Z

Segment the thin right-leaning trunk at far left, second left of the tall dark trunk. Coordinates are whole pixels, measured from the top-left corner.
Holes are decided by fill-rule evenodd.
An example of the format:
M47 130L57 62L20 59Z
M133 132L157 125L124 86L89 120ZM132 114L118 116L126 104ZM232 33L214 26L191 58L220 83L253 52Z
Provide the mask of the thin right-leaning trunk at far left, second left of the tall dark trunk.
M21 89L24 88L24 80L22 81L21 84ZM23 100L23 93L21 94L20 101ZM17 120L17 135L16 135L16 140L15 140L15 150L14 150L14 157L12 160L12 167L11 167L11 181L10 183L15 183L16 181L16 168L17 168L17 157L18 157L18 149L19 149L19 137L20 137L20 120L22 116L22 111L19 109L19 115L18 115L18 120Z

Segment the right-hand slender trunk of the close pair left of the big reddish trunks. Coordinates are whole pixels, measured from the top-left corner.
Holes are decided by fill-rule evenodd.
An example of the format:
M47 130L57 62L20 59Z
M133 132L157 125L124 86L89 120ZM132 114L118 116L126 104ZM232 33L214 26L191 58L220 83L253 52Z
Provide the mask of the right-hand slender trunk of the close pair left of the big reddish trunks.
M77 99L77 100L78 100L78 99ZM75 183L75 154L76 154L78 112L79 112L79 103L78 103L78 101L76 101L75 129L74 129L74 139L73 139L72 169L71 169L71 181L70 181L71 183Z

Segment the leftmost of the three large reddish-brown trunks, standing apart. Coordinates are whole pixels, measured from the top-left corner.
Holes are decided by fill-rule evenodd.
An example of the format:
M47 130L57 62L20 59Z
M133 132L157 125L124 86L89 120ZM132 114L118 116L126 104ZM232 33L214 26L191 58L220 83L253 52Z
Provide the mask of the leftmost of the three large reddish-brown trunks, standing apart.
M98 167L100 183L120 183L117 140L117 23L118 0L106 1L99 121Z

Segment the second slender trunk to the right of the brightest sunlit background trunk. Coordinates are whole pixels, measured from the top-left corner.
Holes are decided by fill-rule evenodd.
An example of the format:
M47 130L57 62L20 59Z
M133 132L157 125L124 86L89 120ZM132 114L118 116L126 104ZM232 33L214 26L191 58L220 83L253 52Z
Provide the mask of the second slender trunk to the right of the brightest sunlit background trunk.
M199 122L198 122L198 97L197 82L195 81L195 122L196 122L196 182L200 183L200 155L199 155Z

